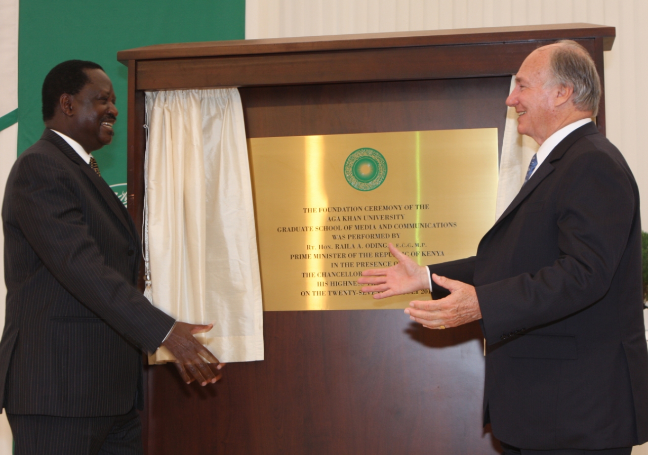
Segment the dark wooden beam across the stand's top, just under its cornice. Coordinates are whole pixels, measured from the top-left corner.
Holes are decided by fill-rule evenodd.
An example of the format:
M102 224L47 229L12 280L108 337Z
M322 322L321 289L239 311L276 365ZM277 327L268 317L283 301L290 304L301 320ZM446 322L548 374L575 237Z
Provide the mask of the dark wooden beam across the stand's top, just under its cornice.
M594 39L581 39L594 50ZM515 74L541 45L555 41L356 49L138 63L137 89L247 87Z

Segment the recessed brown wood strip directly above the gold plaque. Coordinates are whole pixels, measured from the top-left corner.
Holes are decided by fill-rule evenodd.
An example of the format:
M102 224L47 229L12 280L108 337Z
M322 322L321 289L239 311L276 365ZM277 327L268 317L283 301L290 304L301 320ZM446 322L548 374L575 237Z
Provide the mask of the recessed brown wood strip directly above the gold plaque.
M247 137L499 128L511 76L239 89Z

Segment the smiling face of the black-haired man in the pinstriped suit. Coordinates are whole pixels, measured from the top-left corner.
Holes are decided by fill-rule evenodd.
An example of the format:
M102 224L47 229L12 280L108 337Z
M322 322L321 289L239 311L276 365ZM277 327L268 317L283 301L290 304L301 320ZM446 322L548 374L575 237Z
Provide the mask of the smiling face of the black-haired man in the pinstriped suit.
M69 137L90 153L113 140L113 124L117 119L115 91L105 72L86 69L89 81L75 95L64 94L62 104L67 107ZM67 100L64 97L67 96Z

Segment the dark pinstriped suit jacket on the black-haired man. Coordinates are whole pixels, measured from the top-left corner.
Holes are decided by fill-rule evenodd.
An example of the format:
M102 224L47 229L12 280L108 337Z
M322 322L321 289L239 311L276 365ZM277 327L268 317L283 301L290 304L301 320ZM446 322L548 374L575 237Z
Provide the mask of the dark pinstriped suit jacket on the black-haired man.
M7 412L89 417L141 408L141 351L156 350L174 319L135 289L140 243L122 203L45 129L9 174L2 217Z

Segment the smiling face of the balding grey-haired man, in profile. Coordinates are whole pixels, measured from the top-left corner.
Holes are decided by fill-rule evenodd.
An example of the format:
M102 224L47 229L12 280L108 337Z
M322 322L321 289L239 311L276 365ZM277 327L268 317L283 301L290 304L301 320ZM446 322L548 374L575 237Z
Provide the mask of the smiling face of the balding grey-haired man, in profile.
M506 98L506 104L518 113L518 133L532 137L538 144L557 131L554 124L560 87L547 84L551 78L550 48L531 52L516 74L515 89Z

